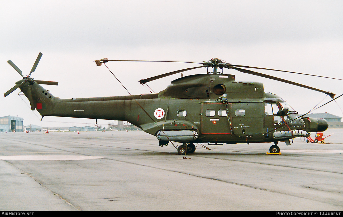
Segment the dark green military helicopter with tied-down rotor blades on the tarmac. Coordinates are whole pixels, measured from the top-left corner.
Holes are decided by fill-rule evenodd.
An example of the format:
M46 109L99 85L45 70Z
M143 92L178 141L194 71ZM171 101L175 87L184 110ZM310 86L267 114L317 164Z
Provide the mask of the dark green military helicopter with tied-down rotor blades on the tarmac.
M331 98L335 96L332 92L244 68L290 71L233 65L219 58L206 62L104 58L94 60L94 62L97 66L106 65L107 62L112 61L177 62L201 65L142 79L139 81L141 84L196 68L207 68L207 73L182 76L171 81L165 90L158 93L60 99L40 85L58 85L58 82L34 80L30 77L42 55L39 53L27 76L23 76L22 71L11 60L8 60L22 79L15 82L16 85L4 93L5 97L19 88L29 100L31 110L37 110L42 115L42 119L44 116L58 116L95 119L95 123L98 119L128 121L144 132L156 136L158 145L161 147L167 146L169 142L182 143L177 148L181 155L193 153L196 150L194 144L199 143L208 145L274 143L269 149L270 153L280 153L277 145L279 141L291 145L290 139L307 138L311 132L325 131L328 128L326 120L302 117L280 96L265 93L263 83L235 81L235 75L224 74L224 68L297 85L325 93ZM222 72L218 69L222 69Z

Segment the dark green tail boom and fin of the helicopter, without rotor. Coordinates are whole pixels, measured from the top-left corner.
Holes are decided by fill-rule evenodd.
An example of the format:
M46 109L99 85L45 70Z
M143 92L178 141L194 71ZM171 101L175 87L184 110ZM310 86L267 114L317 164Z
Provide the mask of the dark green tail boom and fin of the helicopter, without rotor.
M135 114L137 112L133 111L140 109L136 108L138 106L133 99L139 100L144 106L149 105L150 100L158 98L158 94L146 94L60 99L36 82L20 89L29 99L31 109L36 109L42 116L129 121L136 126L139 126L139 123L135 123L138 121Z

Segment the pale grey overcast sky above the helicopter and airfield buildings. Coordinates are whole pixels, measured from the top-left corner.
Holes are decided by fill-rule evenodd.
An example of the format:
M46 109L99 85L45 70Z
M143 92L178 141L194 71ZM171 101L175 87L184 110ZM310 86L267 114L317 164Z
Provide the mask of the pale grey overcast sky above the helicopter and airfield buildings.
M343 79L343 1L2 1L0 8L0 92L21 79L9 59L26 75L43 53L31 77L58 81L45 85L60 98L128 95L96 59L208 61L296 71ZM108 63L131 94L150 93L138 80L195 67L183 63ZM339 96L343 81L255 70ZM184 76L206 69L184 72ZM279 81L235 71L236 81L264 83L299 113L326 95ZM180 74L149 83L164 90ZM95 120L44 117L31 111L14 91L0 97L0 117L19 116L24 125L84 126ZM324 102L330 100L327 96ZM343 96L314 113L343 117ZM66 122L66 123L64 123ZM106 126L108 120L98 120ZM94 125L93 125L94 126Z

